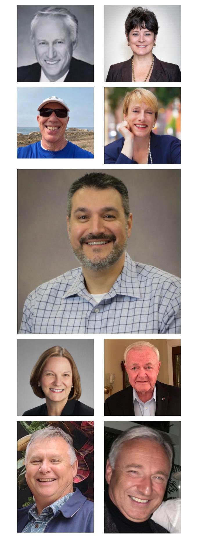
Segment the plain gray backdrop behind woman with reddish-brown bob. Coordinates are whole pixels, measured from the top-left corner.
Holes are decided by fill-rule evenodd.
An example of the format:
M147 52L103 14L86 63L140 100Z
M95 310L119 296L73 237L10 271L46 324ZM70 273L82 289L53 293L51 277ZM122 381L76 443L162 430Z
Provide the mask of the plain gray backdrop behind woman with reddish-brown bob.
M22 416L26 410L30 410L34 406L45 403L45 399L34 395L30 385L30 375L40 355L52 346L62 346L72 355L82 385L82 395L79 400L93 408L93 339L18 339L18 416Z

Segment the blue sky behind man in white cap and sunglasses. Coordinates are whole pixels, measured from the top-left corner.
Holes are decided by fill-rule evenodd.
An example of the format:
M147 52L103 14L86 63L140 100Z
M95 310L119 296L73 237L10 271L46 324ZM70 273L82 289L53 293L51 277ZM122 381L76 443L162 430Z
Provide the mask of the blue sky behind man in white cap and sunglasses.
M40 103L52 95L70 109L68 127L93 127L93 88L18 88L18 126L36 126Z

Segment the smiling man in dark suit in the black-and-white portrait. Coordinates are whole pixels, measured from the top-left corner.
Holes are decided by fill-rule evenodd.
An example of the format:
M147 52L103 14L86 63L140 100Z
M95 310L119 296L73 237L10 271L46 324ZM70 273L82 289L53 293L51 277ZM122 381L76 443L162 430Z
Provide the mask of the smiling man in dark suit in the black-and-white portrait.
M72 56L78 42L78 20L64 7L37 11L31 22L37 63L18 67L18 82L93 82L93 66Z

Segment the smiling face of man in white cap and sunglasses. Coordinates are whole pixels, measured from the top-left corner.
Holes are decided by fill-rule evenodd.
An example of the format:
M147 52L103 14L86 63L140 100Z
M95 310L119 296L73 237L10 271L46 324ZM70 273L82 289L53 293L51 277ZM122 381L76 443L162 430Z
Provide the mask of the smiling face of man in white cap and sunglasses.
M60 105L60 103L57 103L55 101L46 103L43 107L43 109L64 109L65 107L63 105ZM42 142L46 144L53 143L53 144L64 144L65 142L65 129L67 129L67 125L69 122L69 116L67 118L57 118L55 112L53 112L49 118L46 118L45 116L37 116L37 121L40 127L40 132L42 135Z

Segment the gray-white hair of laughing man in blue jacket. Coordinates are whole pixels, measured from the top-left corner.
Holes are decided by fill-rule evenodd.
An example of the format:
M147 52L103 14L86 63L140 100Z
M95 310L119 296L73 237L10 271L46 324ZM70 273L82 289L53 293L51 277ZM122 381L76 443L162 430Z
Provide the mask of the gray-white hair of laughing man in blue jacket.
M29 451L29 448L34 442L39 442L45 439L52 439L52 438L62 438L67 444L68 444L68 455L70 458L70 464L74 464L76 460L76 453L74 451L73 447L73 440L69 434L64 432L60 427L46 427L46 429L41 429L40 431L36 431L32 434L30 441L27 444L26 452L25 452L25 465L27 462L27 454Z

